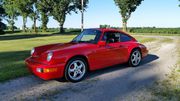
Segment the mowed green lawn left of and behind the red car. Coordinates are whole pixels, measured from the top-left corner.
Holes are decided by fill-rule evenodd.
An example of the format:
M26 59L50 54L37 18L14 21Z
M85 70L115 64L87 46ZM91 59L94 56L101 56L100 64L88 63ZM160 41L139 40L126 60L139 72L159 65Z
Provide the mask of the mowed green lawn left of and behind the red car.
M0 36L0 82L29 75L24 60L35 46L64 43L75 35L51 34L8 34ZM154 38L136 36L142 42L154 41Z

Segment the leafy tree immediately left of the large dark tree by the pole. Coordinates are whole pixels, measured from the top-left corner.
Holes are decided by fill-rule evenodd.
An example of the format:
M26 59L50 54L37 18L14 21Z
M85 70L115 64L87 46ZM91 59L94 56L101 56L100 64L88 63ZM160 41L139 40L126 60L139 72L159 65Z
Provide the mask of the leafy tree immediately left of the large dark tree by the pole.
M47 23L49 21L49 13L50 10L52 10L52 6L50 6L51 2L49 0L38 0L37 1L37 9L41 14L41 21L42 21L42 29L43 32L46 32L47 30Z

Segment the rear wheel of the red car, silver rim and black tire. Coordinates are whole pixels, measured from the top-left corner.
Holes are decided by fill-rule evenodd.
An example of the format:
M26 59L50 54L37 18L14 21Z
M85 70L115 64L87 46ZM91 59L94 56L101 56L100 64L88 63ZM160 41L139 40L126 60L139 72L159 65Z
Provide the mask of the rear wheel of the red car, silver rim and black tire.
M137 57L134 55L136 55ZM131 55L129 57L129 66L137 67L141 63L141 60L142 60L141 51L139 49L132 50Z

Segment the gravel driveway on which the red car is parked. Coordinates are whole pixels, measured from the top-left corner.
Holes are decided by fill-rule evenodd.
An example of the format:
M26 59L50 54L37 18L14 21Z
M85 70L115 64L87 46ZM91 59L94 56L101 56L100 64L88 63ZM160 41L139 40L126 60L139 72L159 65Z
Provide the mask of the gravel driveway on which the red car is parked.
M148 37L148 36L147 36ZM152 37L152 36L149 36ZM156 37L156 36L154 36ZM0 101L136 101L144 96L142 89L162 80L177 61L176 47L180 37L156 37L145 45L150 50L137 68L117 65L89 73L79 83L43 81L27 76L0 83ZM171 38L172 42L166 41Z

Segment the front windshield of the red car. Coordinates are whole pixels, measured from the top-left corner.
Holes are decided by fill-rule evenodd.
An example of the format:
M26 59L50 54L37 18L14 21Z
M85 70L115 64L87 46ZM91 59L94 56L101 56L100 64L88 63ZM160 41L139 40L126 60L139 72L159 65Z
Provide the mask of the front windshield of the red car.
M95 29L85 29L81 34L76 36L72 42L78 43L97 43L101 35L101 31Z

